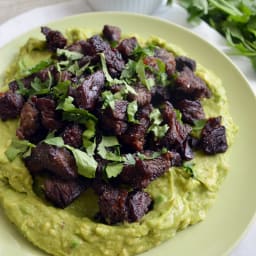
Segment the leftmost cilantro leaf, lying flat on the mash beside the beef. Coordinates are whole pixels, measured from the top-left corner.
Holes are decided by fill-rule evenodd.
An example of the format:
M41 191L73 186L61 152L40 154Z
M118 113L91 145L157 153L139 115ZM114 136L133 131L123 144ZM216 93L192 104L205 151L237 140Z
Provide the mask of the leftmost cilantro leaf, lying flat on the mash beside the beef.
M4 153L8 160L12 162L18 155L30 155L30 150L34 147L35 145L28 140L13 139L10 146Z

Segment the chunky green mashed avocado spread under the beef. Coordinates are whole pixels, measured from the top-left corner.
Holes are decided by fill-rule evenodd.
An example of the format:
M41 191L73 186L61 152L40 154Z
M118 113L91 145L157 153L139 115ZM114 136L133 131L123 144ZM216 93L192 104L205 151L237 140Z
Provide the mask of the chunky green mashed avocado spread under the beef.
M71 42L85 35L89 36L79 29L68 31ZM186 55L174 45L156 38L150 40L178 55ZM30 39L7 71L6 84L48 57L44 43ZM206 117L222 116L231 145L237 128L228 112L221 80L200 65L197 75L213 93L210 99L202 101ZM9 162L4 154L15 137L17 125L17 121L0 122L0 203L24 236L52 255L128 256L155 247L205 218L228 170L226 153L207 156L197 152L192 160L194 178L188 176L184 168L173 167L147 187L155 204L140 222L105 225L93 220L98 210L97 198L90 190L65 210L51 206L35 194L32 177L22 160L16 158Z

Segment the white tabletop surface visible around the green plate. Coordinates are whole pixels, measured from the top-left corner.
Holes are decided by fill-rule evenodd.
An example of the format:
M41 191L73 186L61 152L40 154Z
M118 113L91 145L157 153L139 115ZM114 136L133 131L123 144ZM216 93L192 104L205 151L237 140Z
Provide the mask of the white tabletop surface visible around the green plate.
M48 6L50 4L52 6ZM18 34L21 34L32 27L39 26L42 23L47 23L51 20L64 16L88 11L91 10L86 5L85 0L0 0L0 47ZM176 15L176 23L189 27L199 36L200 30L207 29L209 35L213 35L211 39L215 40L215 43L219 43L219 49L225 52L225 40L221 38L215 31L212 31L207 25L204 27L205 24L202 24L199 28L191 28L191 26L186 23L186 13L181 8L178 8L178 12L180 14L178 18L177 10L175 10L175 13L172 12L172 8L168 8L168 10L167 8L160 8L154 15L167 18L172 21L172 18L170 18L172 15L170 14L174 14ZM31 17L34 18L31 19ZM8 31L8 33L6 31ZM252 71L250 62L246 58L239 57L232 57L232 60L247 76L248 80L250 81L251 88L255 93L256 72ZM230 256L256 255L255 239L256 221L254 220L254 223L252 223L244 238L236 246Z

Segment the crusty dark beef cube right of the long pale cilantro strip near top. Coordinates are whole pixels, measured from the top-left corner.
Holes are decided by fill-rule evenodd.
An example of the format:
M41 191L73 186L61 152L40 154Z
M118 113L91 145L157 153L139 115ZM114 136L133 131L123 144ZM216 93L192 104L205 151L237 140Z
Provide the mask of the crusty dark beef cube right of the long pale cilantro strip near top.
M107 49L104 51L108 71L112 77L120 77L125 68L125 62L117 49Z

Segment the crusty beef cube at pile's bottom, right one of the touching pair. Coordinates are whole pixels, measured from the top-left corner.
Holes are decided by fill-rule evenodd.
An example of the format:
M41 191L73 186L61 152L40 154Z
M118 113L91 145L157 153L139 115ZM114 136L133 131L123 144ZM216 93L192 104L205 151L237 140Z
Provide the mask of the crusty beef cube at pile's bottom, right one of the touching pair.
M127 198L128 222L139 221L149 210L152 199L147 192L132 191Z

